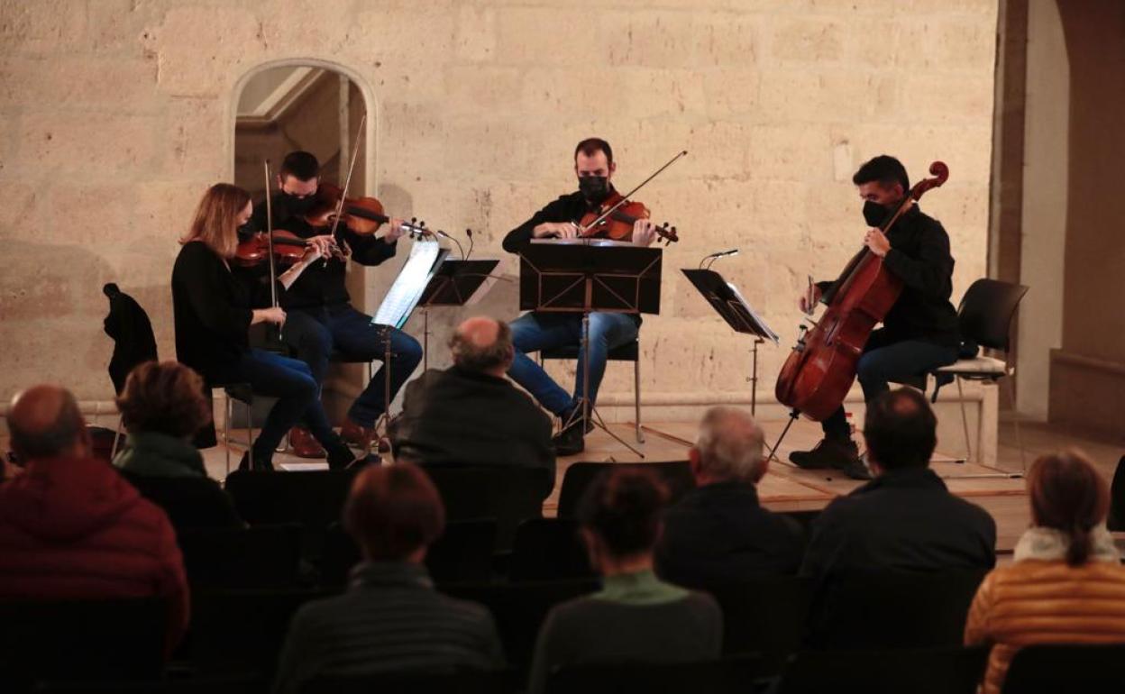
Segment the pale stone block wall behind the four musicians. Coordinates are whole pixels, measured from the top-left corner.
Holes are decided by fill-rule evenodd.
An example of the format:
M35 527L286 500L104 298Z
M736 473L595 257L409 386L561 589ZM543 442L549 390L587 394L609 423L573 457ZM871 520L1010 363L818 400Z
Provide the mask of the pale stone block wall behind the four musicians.
M313 58L371 100L369 189L394 214L472 227L478 256L574 188L578 139L614 145L622 187L688 150L638 196L683 238L645 322L644 390L748 402L748 342L678 273L738 246L716 269L783 336L762 350L772 399L806 276L835 276L861 244L850 175L867 157L897 154L916 178L947 162L924 207L951 234L954 300L984 273L996 13L993 0L2 0L0 391L50 378L109 397L106 281L173 355L176 238L233 174L237 87ZM367 272L360 303L392 274ZM514 289L486 306L514 317ZM431 344L459 317L435 312ZM629 370L611 368L603 393L630 398Z

